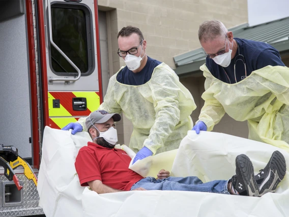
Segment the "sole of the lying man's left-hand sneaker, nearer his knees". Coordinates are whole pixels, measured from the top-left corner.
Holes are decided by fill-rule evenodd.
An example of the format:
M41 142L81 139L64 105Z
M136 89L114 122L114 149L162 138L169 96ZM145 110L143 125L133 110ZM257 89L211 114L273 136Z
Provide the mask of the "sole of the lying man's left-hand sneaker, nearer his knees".
M240 168L248 196L258 197L258 185L254 178L254 169L249 157L247 157L245 154L238 155L236 157L236 167Z

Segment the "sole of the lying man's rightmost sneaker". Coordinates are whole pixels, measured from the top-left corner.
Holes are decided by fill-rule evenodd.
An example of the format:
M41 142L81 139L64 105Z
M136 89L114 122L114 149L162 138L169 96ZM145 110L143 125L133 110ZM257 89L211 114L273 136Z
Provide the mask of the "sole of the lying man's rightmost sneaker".
M277 185L286 174L286 161L279 151L274 151L269 162L270 172L263 183L259 186L260 197L268 192L275 192Z

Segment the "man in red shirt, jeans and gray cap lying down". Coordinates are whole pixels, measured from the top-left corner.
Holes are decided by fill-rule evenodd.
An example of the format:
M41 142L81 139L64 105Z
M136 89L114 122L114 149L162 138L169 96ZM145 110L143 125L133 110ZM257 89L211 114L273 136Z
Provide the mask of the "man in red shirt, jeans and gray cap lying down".
M121 149L115 149L117 130L114 121L119 114L95 111L86 119L85 125L93 142L82 147L75 161L81 186L90 186L98 194L122 191L190 191L261 197L275 192L284 178L286 163L284 156L273 152L267 166L254 176L252 162L245 155L236 157L236 175L229 180L203 183L195 176L170 177L161 170L157 179L142 177L128 169L131 158Z

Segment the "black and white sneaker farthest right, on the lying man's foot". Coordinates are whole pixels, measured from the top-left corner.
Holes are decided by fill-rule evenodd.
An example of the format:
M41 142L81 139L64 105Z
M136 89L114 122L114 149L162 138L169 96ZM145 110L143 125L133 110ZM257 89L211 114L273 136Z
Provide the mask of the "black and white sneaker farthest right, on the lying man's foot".
M277 185L286 173L286 161L279 151L274 151L268 164L255 176L258 184L259 196L275 192Z

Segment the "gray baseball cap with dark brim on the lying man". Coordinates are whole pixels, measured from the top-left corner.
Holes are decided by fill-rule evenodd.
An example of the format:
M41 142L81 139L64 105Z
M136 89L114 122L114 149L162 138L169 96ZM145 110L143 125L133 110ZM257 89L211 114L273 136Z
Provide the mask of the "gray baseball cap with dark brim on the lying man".
M121 115L118 113L109 114L104 110L96 110L92 112L85 120L85 127L88 130L93 124L102 124L108 121L110 118L113 119L114 122L118 122L122 119Z

